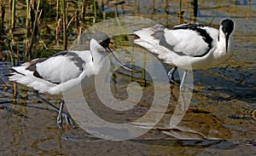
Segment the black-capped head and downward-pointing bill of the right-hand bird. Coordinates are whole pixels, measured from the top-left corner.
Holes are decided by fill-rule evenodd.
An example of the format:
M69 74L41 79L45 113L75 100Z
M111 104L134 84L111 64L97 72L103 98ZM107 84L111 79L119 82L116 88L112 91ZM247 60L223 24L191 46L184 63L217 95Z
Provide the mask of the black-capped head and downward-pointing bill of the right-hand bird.
M226 47L226 53L228 52L229 48L229 39L232 33L234 32L234 21L230 19L222 20L220 26L219 26L219 32L220 36L222 38L225 38L225 47Z

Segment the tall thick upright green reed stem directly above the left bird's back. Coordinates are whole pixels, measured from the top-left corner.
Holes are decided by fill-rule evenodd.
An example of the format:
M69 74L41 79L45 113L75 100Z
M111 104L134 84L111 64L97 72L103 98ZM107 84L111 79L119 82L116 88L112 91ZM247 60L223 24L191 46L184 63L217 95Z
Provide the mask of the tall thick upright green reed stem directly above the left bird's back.
M66 12L66 0L61 0L61 14L62 14L62 26L63 26L63 49L67 50L67 12Z

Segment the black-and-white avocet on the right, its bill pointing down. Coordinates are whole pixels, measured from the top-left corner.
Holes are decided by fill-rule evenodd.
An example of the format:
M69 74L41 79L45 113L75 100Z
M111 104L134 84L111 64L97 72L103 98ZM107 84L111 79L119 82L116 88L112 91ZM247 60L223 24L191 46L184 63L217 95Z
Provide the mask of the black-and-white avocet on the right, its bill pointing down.
M223 20L219 29L199 24L182 24L172 28L156 25L134 32L139 38L134 43L157 54L158 57L175 66L168 75L173 81L173 72L177 66L186 70L207 69L218 66L233 55L232 42L234 21Z

